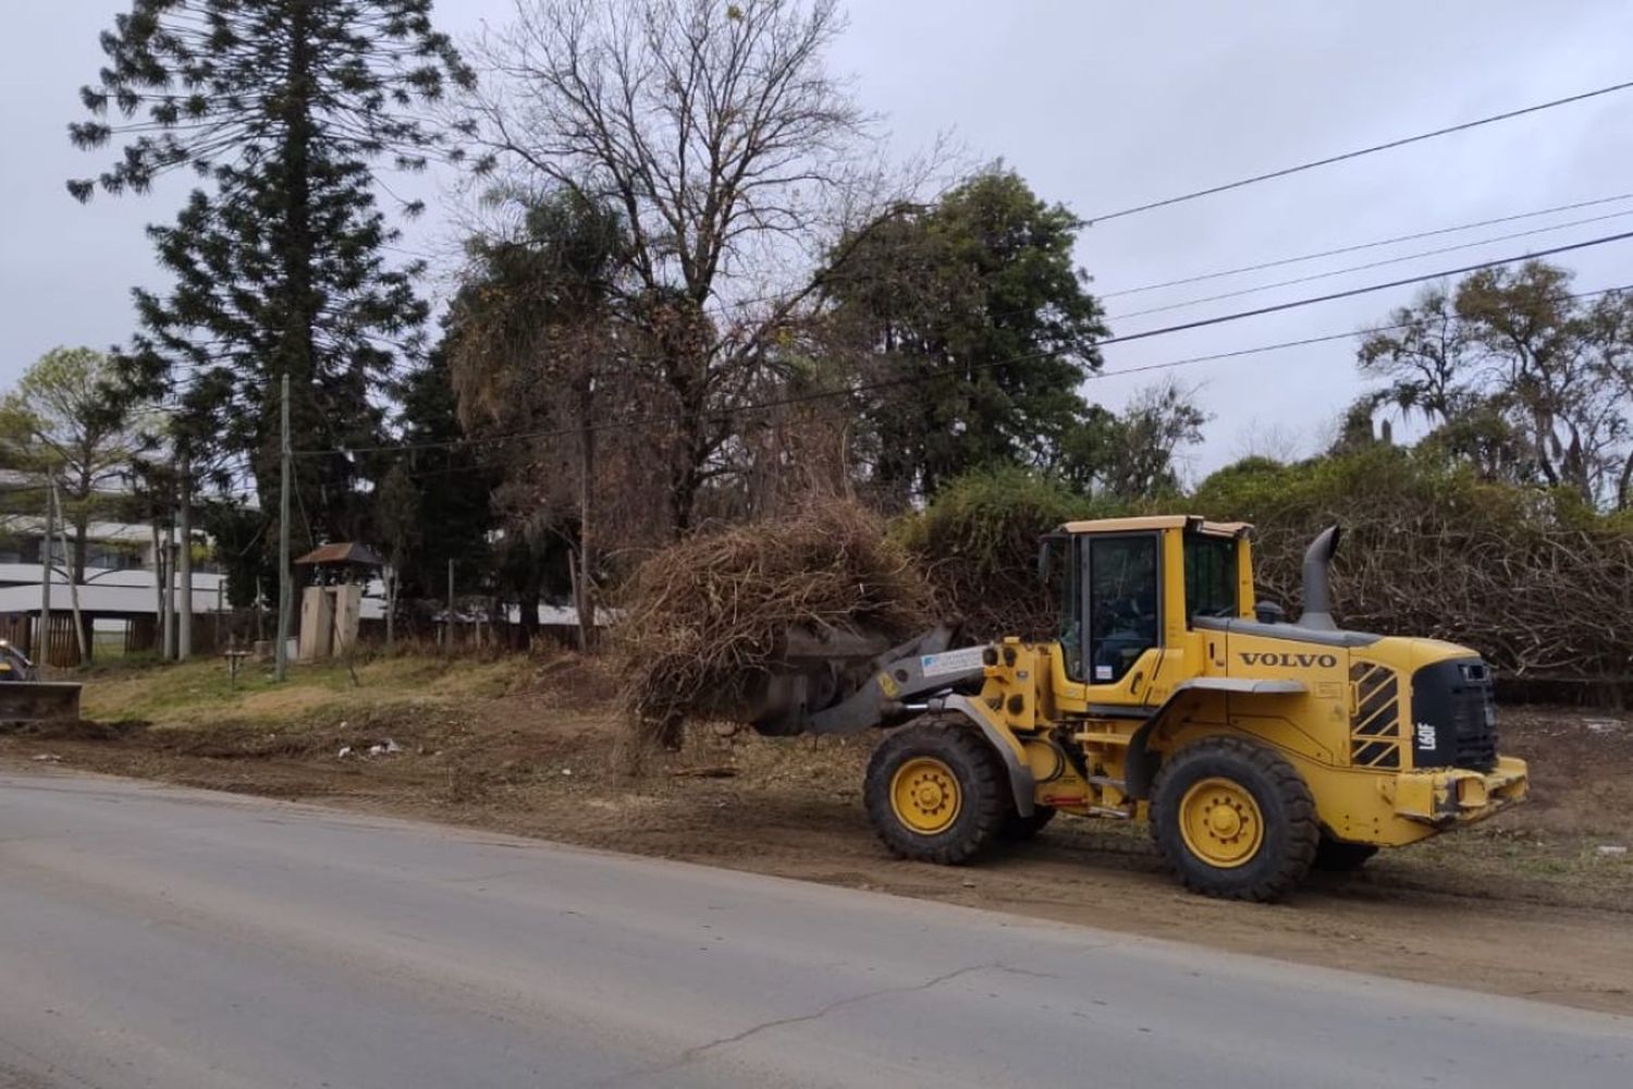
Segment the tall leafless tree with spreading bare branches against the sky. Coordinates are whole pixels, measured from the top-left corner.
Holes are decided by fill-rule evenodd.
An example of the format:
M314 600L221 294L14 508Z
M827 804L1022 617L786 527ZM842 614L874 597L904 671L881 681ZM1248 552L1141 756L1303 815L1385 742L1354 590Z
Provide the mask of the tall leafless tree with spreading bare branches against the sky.
M825 217L861 170L869 119L825 69L841 29L834 0L518 0L474 47L480 168L624 219L627 348L676 420L674 532L815 297Z

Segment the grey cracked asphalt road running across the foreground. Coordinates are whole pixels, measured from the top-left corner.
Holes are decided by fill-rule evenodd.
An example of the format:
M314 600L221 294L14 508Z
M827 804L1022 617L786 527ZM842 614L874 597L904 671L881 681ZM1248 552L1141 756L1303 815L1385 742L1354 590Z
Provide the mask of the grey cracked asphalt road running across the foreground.
M0 776L3 1089L1068 1084L1622 1087L1633 1019L436 825Z

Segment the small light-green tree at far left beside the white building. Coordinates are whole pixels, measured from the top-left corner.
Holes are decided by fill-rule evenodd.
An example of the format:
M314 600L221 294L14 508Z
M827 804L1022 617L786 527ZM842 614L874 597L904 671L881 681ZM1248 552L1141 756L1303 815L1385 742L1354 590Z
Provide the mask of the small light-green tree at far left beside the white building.
M111 377L101 353L56 348L0 400L0 457L41 480L31 496L18 496L31 514L46 506L44 480L57 480L75 583L85 581L90 524L129 504L132 464L152 442L136 407L109 400Z

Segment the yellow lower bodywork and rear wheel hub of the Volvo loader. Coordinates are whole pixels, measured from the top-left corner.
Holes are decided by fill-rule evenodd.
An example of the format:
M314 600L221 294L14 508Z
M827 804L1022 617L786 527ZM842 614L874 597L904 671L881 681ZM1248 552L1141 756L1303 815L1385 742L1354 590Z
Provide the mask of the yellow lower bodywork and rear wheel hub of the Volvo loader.
M1140 678L1141 671L1132 669L1119 686L1066 681L1058 645L1011 640L1001 647L999 661L986 671L981 702L990 709L990 720L1030 769L1037 805L1088 815L1140 816L1140 800L1128 798L1122 784L1128 772L1128 748L1145 720L1112 713L1099 717L1094 712L1101 707L1146 707L1140 702L1138 691L1130 689L1150 687L1153 694L1171 694L1182 681L1171 669L1199 663L1204 678L1215 676L1212 671L1217 669L1218 674L1248 679L1298 681L1303 691L1236 696L1181 687L1166 704L1159 728L1151 731L1150 749L1168 756L1217 736L1262 741L1293 762L1315 797L1318 818L1339 839L1401 846L1453 825L1484 820L1525 797L1525 764L1514 758L1499 759L1489 772L1417 771L1403 767L1408 761L1399 756L1391 767L1354 766L1357 738L1350 735L1350 728L1355 686L1349 679L1347 655L1313 651L1308 647L1288 651L1285 640L1256 637L1231 637L1226 648L1221 637L1200 632L1187 635L1190 645L1181 647L1179 653L1148 651L1151 663L1146 676ZM1236 656L1236 663L1241 655L1248 655L1254 665L1230 669L1233 660L1226 658L1228 653ZM1391 668L1399 676L1411 676L1411 669L1429 661L1466 653L1434 640L1390 638L1367 648L1368 661ZM1096 691L1109 687L1119 691ZM1398 699L1408 700L1409 692L1403 689ZM1401 712L1398 720L1404 730L1409 715ZM1061 743L1060 727L1068 722L1070 741L1081 754L1079 759L1068 758ZM1367 745L1377 743L1367 740ZM1404 736L1393 736L1390 745L1396 754L1409 753L1409 740ZM1231 865L1230 851L1235 849L1246 851L1241 859L1251 857L1253 834L1239 828L1256 828L1257 815L1243 803L1243 797L1202 792L1194 815L1187 798L1184 828L1187 844L1199 857L1220 867ZM1230 823L1225 810L1239 815L1239 828Z

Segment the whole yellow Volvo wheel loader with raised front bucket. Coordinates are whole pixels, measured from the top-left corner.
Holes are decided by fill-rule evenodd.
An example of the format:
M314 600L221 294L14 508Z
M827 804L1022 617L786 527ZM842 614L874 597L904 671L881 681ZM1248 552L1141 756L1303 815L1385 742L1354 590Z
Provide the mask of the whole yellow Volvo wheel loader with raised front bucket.
M1275 900L1527 790L1478 653L1336 627L1337 542L1310 545L1288 624L1254 599L1244 522L1068 522L1040 557L1050 642L789 633L745 717L768 735L890 728L864 800L897 856L967 862L1057 813L1146 820L1186 887Z

